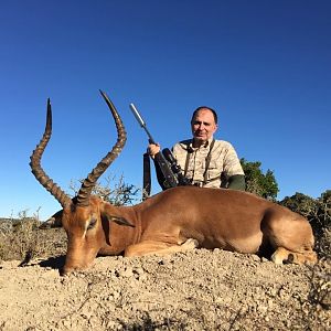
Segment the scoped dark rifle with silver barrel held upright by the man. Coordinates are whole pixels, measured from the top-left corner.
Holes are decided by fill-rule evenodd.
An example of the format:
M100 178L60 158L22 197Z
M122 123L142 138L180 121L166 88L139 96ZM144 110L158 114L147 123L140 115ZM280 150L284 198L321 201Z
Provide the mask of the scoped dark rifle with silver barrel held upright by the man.
M130 109L131 109L134 116L136 117L137 121L139 122L140 127L146 131L149 142L156 145L156 140L149 132L145 120L142 119L141 115L139 114L139 111L137 110L137 108L134 104L130 104ZM146 154L143 154L145 164L147 162L146 158L149 158L149 156L148 154L146 156ZM164 148L162 150L162 152L157 153L154 156L154 161L159 164L160 170L164 178L163 185L161 185L162 188L170 189L170 188L174 188L178 185L189 185L190 184L190 181L183 177L183 174L181 172L181 168L177 164L177 161L175 161L173 154L171 153L171 151L168 148ZM149 159L148 159L148 162L149 162ZM147 167L149 167L149 163ZM146 173L143 174L143 177L146 178ZM145 188L145 190L148 190L147 193L149 195L150 184L148 185L146 180L143 180L143 182L145 182L143 188Z

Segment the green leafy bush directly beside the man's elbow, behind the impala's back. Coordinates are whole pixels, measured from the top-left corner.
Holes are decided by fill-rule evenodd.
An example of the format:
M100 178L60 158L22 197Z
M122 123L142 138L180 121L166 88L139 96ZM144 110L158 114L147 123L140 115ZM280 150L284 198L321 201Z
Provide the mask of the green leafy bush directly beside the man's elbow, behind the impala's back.
M260 169L261 162L259 161L248 162L242 158L241 163L245 172L246 191L276 201L279 190L274 171L268 169L266 174L264 174Z

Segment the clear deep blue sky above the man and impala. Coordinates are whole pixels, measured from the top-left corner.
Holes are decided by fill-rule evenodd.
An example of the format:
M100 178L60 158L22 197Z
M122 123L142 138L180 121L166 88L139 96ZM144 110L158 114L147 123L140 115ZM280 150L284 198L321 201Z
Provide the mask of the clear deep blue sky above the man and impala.
M141 186L147 137L190 138L192 110L217 109L216 138L274 171L278 199L331 189L331 1L0 1L0 216L60 209L29 157L53 106L42 161L63 190L113 147L109 95L128 141L104 177ZM159 185L153 181L153 192Z

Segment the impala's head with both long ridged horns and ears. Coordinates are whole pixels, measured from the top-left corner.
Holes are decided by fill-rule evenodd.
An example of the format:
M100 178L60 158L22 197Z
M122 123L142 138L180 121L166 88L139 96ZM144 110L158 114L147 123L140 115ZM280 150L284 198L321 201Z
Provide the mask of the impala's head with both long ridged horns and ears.
M83 269L90 265L100 247L107 243L105 231L103 231L105 220L106 222L115 221L122 225L130 225L121 217L111 215L111 205L108 205L106 210L105 203L92 195L92 190L98 178L117 158L126 142L126 131L115 106L104 92L100 93L113 114L117 127L117 142L114 145L111 151L100 160L83 181L74 199L71 199L54 183L41 167L42 154L52 135L52 108L50 99L47 100L44 135L30 158L32 173L63 207L62 217L57 220L57 226L62 225L65 228L68 238L64 273L73 269Z

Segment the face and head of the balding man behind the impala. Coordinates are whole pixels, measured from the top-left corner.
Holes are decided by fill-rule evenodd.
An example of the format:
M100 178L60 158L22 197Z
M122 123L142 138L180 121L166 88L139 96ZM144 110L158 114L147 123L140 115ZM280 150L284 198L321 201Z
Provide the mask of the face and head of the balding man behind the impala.
M191 122L191 128L196 141L207 141L217 130L213 113L207 108L200 109Z

